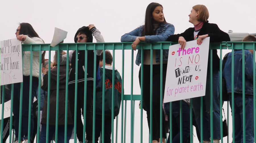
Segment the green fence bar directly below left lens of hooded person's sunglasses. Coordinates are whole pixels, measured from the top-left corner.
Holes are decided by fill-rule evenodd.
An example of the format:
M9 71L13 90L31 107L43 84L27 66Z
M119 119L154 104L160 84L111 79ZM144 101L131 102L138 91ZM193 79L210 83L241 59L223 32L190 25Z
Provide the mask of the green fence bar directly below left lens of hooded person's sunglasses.
M77 44L76 44L76 68L75 68L75 73L78 73L78 47L77 47ZM77 143L77 138L76 138L76 135L77 135L77 75L78 74L75 74L75 114L74 114L74 143ZM85 79L84 79L85 80ZM81 110L81 109L78 109L78 110Z

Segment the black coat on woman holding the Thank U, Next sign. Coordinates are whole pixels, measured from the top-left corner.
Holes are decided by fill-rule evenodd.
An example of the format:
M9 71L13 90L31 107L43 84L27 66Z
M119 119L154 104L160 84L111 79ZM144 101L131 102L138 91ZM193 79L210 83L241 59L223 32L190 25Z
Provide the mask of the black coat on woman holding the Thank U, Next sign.
M193 41L194 40L194 31L195 28L189 28L185 30L185 32L171 35L168 37L166 41L169 42L178 42L179 37L182 36L186 41ZM212 24L204 22L203 27L198 32L197 37L201 35L206 35L210 37L210 42L223 42L223 41L230 41L230 37L226 32L220 30L217 24ZM212 50L212 68L213 70L220 70L220 58L217 54L217 50ZM208 55L208 70L210 69L210 51Z

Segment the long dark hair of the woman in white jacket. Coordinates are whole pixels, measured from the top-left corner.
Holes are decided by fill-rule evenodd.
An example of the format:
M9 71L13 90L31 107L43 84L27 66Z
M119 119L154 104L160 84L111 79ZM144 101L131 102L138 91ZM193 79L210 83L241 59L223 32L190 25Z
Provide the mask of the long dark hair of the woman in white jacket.
M32 27L31 24L29 23L20 23L20 35L23 34L23 35L28 35L28 37L32 38L32 37L38 37L38 34L36 33L36 31L34 30L34 28ZM42 39L43 40L43 39ZM44 41L44 40L43 40ZM45 52L43 52L42 54L42 64L44 65L45 64Z

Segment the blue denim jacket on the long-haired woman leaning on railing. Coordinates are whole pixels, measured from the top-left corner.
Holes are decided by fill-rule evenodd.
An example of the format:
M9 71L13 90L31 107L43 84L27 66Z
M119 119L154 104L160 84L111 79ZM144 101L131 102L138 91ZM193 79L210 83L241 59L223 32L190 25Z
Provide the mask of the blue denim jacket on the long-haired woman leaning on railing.
M144 29L144 25L136 28L135 30L124 34L121 37L121 42L134 42L136 37L140 37L142 31ZM165 42L170 35L174 34L174 26L172 24L161 24L156 31L156 35L145 36L145 40L147 43L155 43L155 42ZM163 60L168 60L169 50L163 50ZM160 62L160 50L156 50L156 62ZM141 63L141 50L138 50L137 57L135 63L139 66Z

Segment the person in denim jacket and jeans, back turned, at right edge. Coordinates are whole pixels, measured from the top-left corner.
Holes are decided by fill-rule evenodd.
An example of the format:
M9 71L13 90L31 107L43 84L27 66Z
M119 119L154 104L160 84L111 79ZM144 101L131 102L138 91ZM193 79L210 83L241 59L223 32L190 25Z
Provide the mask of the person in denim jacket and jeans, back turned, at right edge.
M243 42L256 42L256 37L248 35L244 37ZM253 51L244 50L245 61L242 60L243 50L234 50L234 103L232 102L232 52L228 54L222 75L226 80L230 107L234 104L235 118L235 136L233 142L243 142L243 66L245 64L245 138L246 143L254 142L254 126L253 126ZM254 83L255 84L255 83Z

